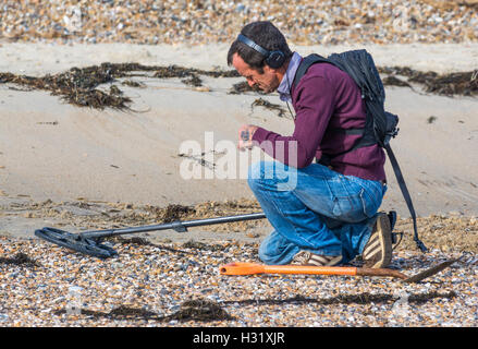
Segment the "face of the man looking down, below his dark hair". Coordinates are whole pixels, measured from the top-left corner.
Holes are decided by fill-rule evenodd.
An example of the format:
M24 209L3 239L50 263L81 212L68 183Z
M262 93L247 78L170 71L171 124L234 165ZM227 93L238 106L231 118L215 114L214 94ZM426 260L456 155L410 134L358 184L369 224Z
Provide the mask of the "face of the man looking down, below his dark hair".
M263 73L260 74L257 70L250 68L249 64L244 62L241 56L234 53L232 57L232 65L234 65L235 70L247 80L250 87L257 86L265 93L269 94L275 91L280 85L275 70L267 64L263 67Z

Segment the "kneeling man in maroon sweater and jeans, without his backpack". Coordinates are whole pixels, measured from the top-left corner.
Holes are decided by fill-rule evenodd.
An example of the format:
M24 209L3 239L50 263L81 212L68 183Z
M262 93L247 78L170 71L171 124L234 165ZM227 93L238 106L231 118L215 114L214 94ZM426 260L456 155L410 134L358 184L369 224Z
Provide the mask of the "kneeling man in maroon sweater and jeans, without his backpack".
M259 257L267 264L332 266L360 255L368 267L385 267L391 224L378 213L387 191L385 154L379 145L351 151L357 135L343 132L365 125L360 91L329 63L311 65L292 85L302 59L270 22L246 25L228 52L228 64L252 87L277 91L296 113L290 136L253 124L240 129L240 148L259 146L275 159L253 164L248 173L274 229ZM284 147L295 148L294 156L284 155ZM326 157L327 166L320 164ZM289 176L295 177L293 186L284 185Z

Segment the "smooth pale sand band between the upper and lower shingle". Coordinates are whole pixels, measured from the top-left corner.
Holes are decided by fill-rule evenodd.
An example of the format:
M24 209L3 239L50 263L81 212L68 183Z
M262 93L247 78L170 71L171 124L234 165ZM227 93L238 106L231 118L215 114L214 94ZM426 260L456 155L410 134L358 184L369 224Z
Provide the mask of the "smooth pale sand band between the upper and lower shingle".
M302 55L322 55L356 47L294 47ZM379 67L403 67L450 73L471 71L478 45L391 45L366 47ZM189 69L230 70L225 45L199 47L123 44L53 46L3 44L0 71L42 76L103 62L176 64ZM205 201L252 198L245 178L187 180L180 173L185 142L203 151L205 136L215 146L236 142L243 123L290 134L293 122L273 110L253 107L261 97L280 104L275 95L232 95L241 77L203 77L203 87L180 79L135 77L146 88L121 85L133 98L131 110L95 110L72 106L48 92L22 91L13 84L0 89L1 200L126 202L134 204L196 204ZM101 86L108 88L113 84ZM393 140L417 214L476 215L478 129L476 98L438 96L409 87L387 87L387 106L400 116ZM20 89L20 91L19 91ZM282 106L285 108L285 106ZM285 115L289 116L289 112ZM432 118L433 122L428 122ZM21 141L21 142L19 142ZM197 155L197 154L196 154ZM211 157L213 158L213 157ZM218 160L219 155L213 158ZM392 169L384 208L406 217L407 209ZM204 176L203 176L204 177Z

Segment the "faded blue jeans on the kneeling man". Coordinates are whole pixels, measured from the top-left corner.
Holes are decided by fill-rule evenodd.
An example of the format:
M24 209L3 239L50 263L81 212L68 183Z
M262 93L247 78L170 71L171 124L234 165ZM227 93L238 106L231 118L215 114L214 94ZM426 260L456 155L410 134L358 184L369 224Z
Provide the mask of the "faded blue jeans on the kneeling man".
M387 191L380 181L320 164L297 169L278 161L253 164L248 184L274 229L259 246L266 264L289 264L302 250L352 261L370 238Z

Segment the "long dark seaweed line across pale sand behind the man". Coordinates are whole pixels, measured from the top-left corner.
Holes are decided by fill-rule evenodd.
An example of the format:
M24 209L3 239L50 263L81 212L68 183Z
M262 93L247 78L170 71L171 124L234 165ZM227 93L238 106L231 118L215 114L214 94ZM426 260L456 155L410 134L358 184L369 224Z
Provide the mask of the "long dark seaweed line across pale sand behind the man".
M418 83L425 85L427 93L439 95L478 95L478 71L459 72L440 75L436 72L419 72L410 68L385 67L378 69L380 73L392 75L384 79L384 84L409 86L409 83ZM42 89L49 91L54 96L61 96L61 99L78 106L90 107L95 109L105 109L107 107L113 109L128 109L132 99L124 96L122 91L115 86L110 86L109 91L99 89L102 84L113 84L118 79L137 76L138 72L154 72L142 76L170 79L180 77L184 84L199 87L203 82L199 75L211 77L240 77L235 70L206 71L200 69L189 69L179 65L143 65L139 63L101 63L86 68L72 68L66 72L40 77L16 75L12 73L0 73L0 84L11 83L21 86L21 91ZM403 75L408 77L407 82L396 79L393 75ZM144 87L144 84L135 83L131 80L122 82L123 85L132 87ZM16 89L16 87L11 87ZM257 87L250 87L247 82L234 84L229 94L242 94L246 92L255 92L263 94ZM260 105L260 104L259 104ZM275 106L261 103L263 107L272 107L279 111L282 117L283 111Z

